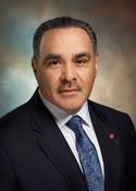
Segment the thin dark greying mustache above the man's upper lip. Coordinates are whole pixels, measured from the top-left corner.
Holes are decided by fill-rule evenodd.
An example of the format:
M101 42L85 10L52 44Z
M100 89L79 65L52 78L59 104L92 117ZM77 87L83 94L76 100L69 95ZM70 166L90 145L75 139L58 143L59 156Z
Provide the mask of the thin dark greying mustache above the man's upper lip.
M79 92L83 91L83 88L76 82L65 82L58 87L58 92L61 93L66 88L75 88L76 91Z

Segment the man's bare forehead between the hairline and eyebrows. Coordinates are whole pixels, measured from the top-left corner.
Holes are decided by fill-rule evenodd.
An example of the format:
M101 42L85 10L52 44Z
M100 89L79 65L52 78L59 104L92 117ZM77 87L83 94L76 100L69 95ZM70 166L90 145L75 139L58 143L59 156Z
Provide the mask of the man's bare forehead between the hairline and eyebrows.
M79 27L49 29L42 35L40 53L44 52L73 52L91 49L91 39L85 29Z

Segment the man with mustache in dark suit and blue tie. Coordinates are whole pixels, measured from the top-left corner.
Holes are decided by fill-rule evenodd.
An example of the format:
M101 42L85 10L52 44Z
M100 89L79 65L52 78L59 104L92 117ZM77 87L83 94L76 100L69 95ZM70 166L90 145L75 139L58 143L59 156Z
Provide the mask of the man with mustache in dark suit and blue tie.
M88 100L98 60L88 23L64 16L37 28L38 88L0 119L0 191L136 191L129 117Z

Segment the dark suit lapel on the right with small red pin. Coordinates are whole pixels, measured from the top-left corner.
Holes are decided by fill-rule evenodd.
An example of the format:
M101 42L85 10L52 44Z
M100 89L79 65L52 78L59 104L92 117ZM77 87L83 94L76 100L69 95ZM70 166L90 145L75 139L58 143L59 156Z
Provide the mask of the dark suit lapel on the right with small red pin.
M110 124L96 104L89 104L89 112L103 157L106 191L115 191L121 172L121 150L118 134L113 130L113 124Z

